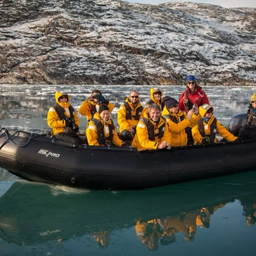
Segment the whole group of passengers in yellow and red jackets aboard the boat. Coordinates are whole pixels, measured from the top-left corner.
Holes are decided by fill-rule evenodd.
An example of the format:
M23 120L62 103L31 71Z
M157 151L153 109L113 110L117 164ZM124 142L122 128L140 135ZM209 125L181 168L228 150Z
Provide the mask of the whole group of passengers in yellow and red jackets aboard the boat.
M214 108L192 74L186 79L186 89L179 100L163 96L159 88L151 88L150 100L142 106L139 92L131 91L118 110L119 133L111 118L115 106L102 92L93 90L78 109L88 120L86 140L78 136L80 123L70 104L70 95L56 92L55 99L56 104L48 111L47 123L54 137L71 144L169 150L216 143L216 133L228 141L256 137L256 93L251 96L246 125L231 133L213 116Z

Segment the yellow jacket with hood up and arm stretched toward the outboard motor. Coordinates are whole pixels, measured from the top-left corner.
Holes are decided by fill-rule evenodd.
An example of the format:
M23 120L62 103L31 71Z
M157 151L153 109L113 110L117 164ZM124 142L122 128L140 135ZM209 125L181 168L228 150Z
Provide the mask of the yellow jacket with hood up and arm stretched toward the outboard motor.
M213 108L210 106L210 108ZM208 108L209 109L209 108ZM199 114L203 118L206 115L206 111L208 109L204 109L202 106L199 107ZM214 109L213 109L214 112ZM206 133L206 137L210 136L211 133L211 124L213 123L213 120L215 119L214 116L212 116L208 123L202 122L204 126L204 130ZM200 121L199 121L200 122ZM228 141L234 141L237 140L237 137L235 137L232 133L230 133L225 126L223 126L218 119L216 119L216 133L219 133L222 137L224 137ZM199 131L199 125L194 126L192 128L192 136L197 144L202 144L202 135ZM214 142L216 143L216 138L214 139Z

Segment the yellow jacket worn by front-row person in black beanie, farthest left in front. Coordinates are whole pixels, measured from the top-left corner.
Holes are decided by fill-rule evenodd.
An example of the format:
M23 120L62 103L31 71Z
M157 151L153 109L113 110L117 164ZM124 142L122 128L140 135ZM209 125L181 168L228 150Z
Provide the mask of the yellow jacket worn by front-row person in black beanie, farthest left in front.
M104 120L102 120L99 117L98 112L95 113L93 118L99 119L99 121L104 126L104 129L103 129L104 130L104 136L109 137L109 131L110 131L109 125L112 124L114 126L114 123L112 122L112 119L109 120L109 123L106 123ZM87 136L88 144L90 146L105 146L103 144L99 144L98 130L97 130L97 127L95 126L95 123L93 123L92 120L89 121L89 123L88 123L88 127L86 129L86 136ZM116 126L115 126L115 129L113 130L113 137L112 137L111 143L116 145L117 147L121 147L122 144L123 144L123 140L120 140L118 135L117 135Z

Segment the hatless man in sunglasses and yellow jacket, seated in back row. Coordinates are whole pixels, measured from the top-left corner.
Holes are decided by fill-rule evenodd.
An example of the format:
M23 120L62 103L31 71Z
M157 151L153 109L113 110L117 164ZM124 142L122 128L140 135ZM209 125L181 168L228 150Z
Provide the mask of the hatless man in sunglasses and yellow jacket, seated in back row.
M133 140L137 123L144 116L144 107L140 103L139 92L132 91L117 112L119 137L121 140Z

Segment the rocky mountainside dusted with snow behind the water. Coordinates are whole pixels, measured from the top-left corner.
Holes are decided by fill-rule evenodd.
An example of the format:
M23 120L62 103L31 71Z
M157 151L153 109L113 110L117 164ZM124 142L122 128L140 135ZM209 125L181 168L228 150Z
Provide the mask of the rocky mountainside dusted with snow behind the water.
M2 0L0 84L256 85L256 9Z

